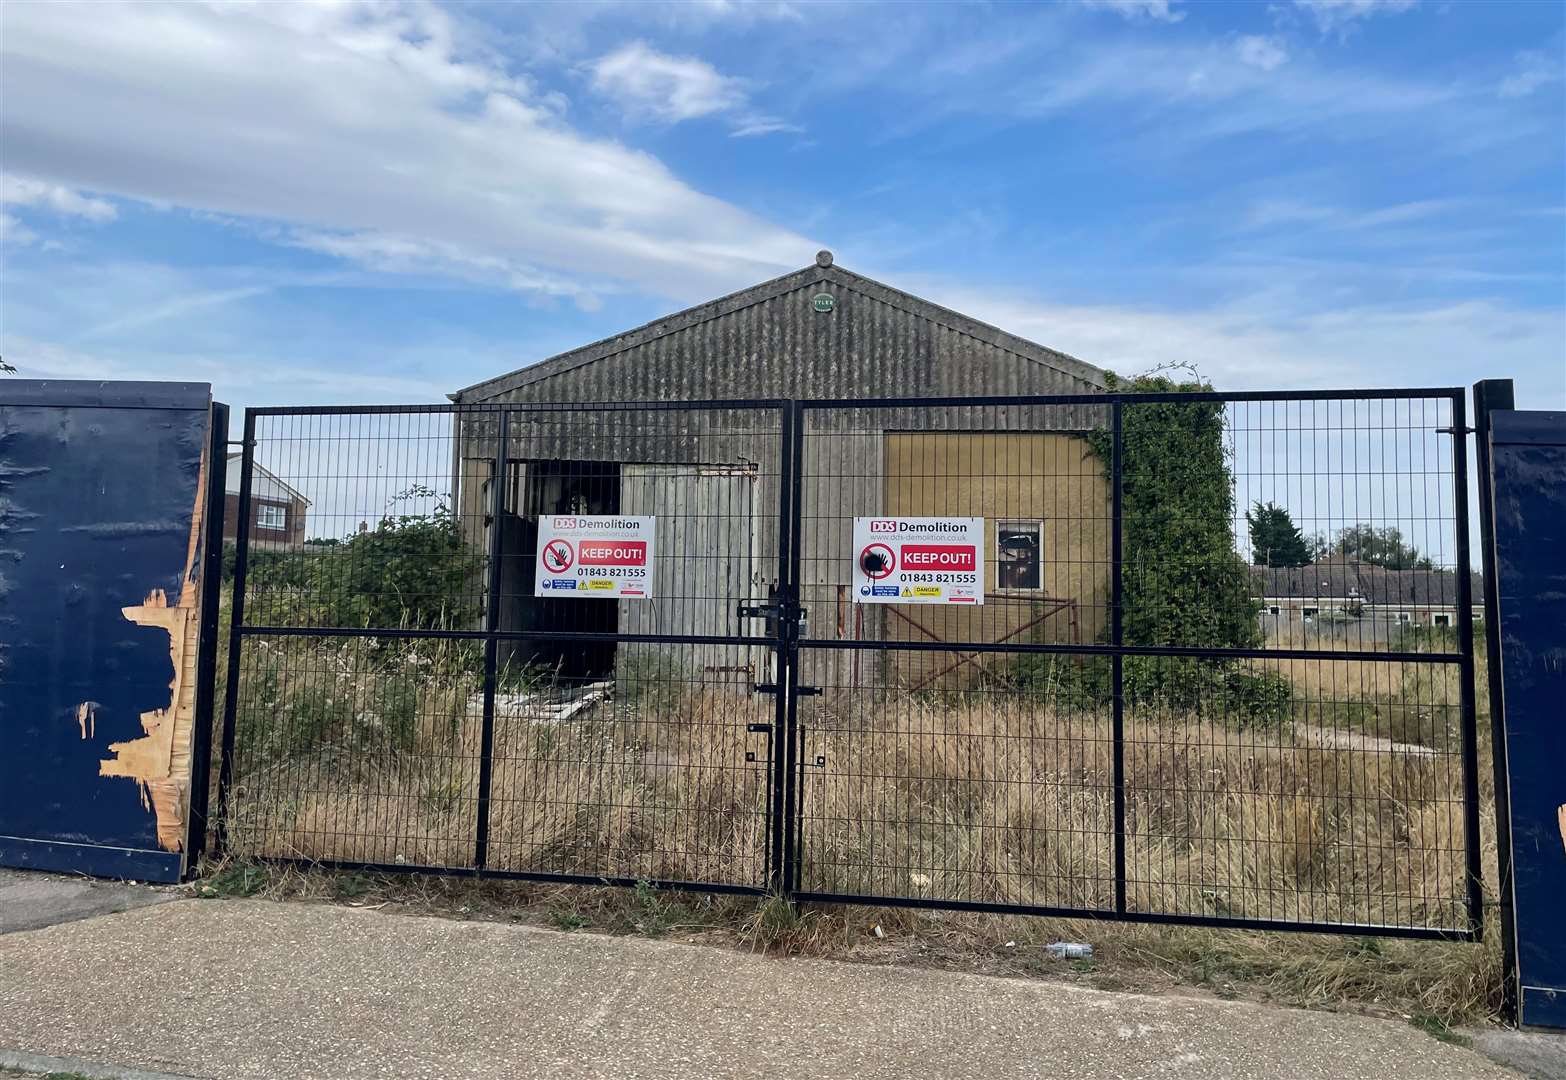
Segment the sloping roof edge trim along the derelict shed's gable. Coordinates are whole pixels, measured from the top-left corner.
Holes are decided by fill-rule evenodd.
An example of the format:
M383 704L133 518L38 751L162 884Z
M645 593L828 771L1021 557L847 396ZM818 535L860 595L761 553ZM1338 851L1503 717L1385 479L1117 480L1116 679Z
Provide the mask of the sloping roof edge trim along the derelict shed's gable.
M763 304L775 296L783 296L785 293L810 288L813 285L836 285L838 288L860 293L889 307L929 319L938 326L944 326L957 333L977 338L999 349L1032 360L1034 363L1052 368L1054 371L1060 371L1062 374L1074 379L1081 379L1090 385L1104 387L1104 371L1101 368L1095 368L1093 365L1066 355L1065 352L1048 349L1035 341L1029 341L1027 338L1019 338L1015 333L1007 333L999 327L980 322L979 319L966 316L960 311L952 311L940 304L932 304L930 301L913 296L911 293L904 293L902 290L883 285L874 279L846 271L841 266L832 263L822 266L821 260L817 260L816 265L794 271L792 274L785 274L783 277L775 277L770 282L752 285L739 293L720 296L716 301L698 304L697 307L686 308L684 311L666 315L664 318L636 327L634 330L626 330L625 333L617 333L611 338L584 344L578 349L572 349L570 352L562 352L556 357L550 357L548 360L540 360L539 363L528 365L526 368L518 368L509 374L485 379L484 382L471 387L464 387L462 390L448 394L448 398L457 402L484 401L487 398L493 398L495 394L503 394L518 387L542 382L575 368L583 368L606 357L626 352L628 349L647 344L648 341L655 341L667 333L675 333L709 319L731 315L733 311L739 311L755 304Z

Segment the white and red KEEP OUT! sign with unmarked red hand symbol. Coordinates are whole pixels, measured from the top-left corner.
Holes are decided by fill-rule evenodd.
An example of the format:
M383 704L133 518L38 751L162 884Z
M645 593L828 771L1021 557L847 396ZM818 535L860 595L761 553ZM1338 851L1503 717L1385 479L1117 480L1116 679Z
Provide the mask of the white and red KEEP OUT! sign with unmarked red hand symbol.
M647 599L656 524L658 518L543 515L532 593Z

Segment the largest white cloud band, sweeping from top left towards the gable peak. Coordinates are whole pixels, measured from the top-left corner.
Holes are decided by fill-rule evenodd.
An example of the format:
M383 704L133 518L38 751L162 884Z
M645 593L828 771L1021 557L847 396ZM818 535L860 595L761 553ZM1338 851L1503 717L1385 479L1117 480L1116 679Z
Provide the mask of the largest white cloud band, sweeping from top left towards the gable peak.
M542 268L686 299L819 247L572 130L470 36L420 3L11 5L6 167L362 244L402 238L437 268L498 260L501 283Z

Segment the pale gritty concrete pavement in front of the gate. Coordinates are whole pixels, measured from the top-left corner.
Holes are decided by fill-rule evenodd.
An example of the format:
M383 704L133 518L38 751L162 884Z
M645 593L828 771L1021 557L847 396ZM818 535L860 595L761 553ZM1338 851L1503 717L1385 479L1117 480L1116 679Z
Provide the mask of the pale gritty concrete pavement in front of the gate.
M1517 1080L1392 1021L238 900L0 936L0 1050L257 1080Z

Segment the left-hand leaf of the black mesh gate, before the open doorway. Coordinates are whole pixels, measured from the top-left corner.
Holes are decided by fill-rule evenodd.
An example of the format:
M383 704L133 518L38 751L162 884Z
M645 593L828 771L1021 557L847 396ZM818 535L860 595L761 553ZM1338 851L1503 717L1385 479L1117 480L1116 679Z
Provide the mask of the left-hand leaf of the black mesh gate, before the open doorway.
M227 848L764 891L789 419L252 410Z

